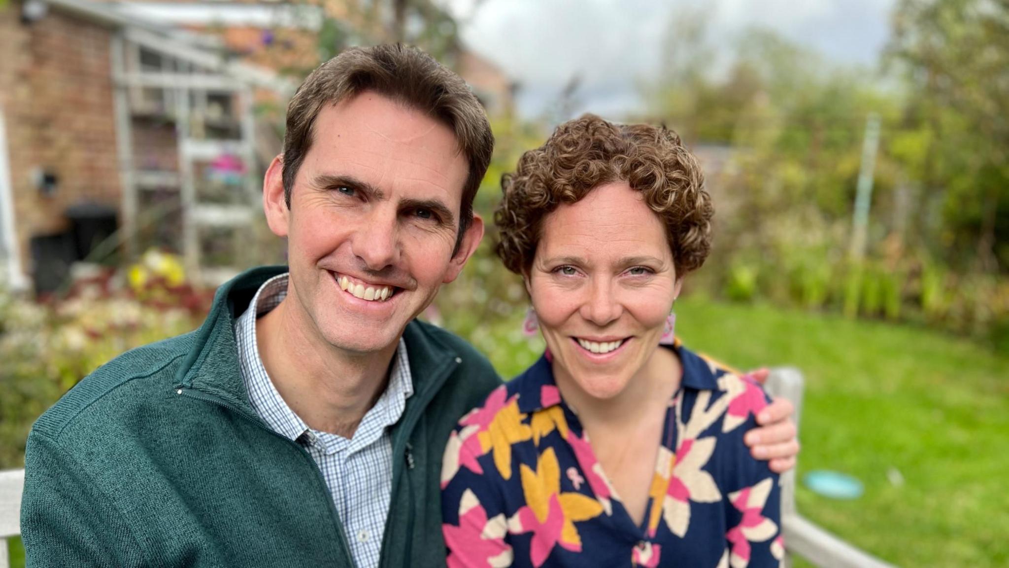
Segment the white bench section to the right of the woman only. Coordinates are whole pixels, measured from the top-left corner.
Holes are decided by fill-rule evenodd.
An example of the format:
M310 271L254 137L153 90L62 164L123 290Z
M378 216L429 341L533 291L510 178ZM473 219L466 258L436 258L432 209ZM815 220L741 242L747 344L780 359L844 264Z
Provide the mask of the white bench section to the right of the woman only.
M784 397L795 405L795 425L802 410L802 373L781 367L771 370L765 388L774 397ZM801 455L800 455L801 456ZM791 557L801 556L821 568L893 568L882 560L855 548L806 520L795 510L795 469L781 476L781 525L785 537L786 566Z

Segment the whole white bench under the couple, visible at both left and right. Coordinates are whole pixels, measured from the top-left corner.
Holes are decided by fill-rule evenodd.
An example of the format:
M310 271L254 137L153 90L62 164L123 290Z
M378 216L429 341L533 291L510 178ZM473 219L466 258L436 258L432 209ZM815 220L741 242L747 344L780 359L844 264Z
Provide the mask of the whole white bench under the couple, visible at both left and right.
M771 371L767 390L773 396L783 396L795 405L795 423L799 424L802 410L802 373L797 369L778 368ZM821 568L893 568L837 537L806 520L795 510L795 470L782 476L781 524L785 550L801 556ZM5 539L20 534L21 488L24 470L0 471L0 568L8 568L9 557Z

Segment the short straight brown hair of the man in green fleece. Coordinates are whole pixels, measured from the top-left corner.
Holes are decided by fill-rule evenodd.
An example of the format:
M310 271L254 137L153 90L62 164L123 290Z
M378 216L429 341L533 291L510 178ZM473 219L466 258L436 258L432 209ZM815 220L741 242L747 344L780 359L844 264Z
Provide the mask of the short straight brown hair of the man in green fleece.
M469 177L459 207L459 234L473 220L473 198L490 164L494 137L486 112L465 81L431 56L408 45L351 48L319 66L298 88L288 105L284 136L284 198L291 192L302 161L312 148L316 117L324 105L374 91L441 121L455 133L469 163ZM454 253L453 253L454 254Z

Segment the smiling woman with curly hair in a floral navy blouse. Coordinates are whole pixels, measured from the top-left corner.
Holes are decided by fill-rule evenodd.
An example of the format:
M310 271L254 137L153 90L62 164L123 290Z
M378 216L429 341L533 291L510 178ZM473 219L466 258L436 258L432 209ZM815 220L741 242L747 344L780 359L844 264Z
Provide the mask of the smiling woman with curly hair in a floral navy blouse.
M768 399L671 341L710 243L694 158L665 128L586 115L502 189L497 254L547 352L449 441L449 568L778 565L778 478L743 442Z

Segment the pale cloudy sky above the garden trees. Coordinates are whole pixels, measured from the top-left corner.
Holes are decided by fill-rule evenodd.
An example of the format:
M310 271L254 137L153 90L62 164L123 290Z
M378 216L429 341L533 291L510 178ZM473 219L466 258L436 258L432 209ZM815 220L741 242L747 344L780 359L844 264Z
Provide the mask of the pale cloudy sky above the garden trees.
M544 111L578 75L576 110L619 117L641 104L636 82L655 73L670 23L685 10L708 14L714 45L762 26L829 59L872 65L895 0L444 1L464 22L466 44L519 80L524 114Z

